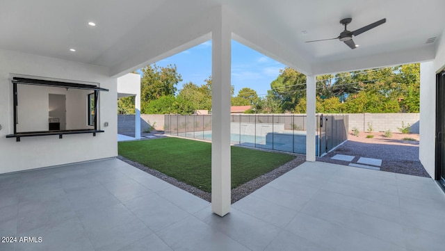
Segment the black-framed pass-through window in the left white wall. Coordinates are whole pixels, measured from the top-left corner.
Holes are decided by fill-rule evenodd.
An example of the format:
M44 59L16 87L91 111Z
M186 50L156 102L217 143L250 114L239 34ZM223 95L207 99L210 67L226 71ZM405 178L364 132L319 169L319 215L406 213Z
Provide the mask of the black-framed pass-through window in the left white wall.
M13 78L14 133L6 138L104 132L98 128L94 85ZM92 92L93 91L93 92ZM87 100L85 100L87 97ZM87 116L86 116L87 115Z

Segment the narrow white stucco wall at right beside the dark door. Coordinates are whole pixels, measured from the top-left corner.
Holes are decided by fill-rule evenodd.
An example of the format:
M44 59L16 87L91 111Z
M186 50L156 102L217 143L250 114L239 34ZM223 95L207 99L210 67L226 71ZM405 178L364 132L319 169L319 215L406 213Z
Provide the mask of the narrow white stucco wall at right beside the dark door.
M419 159L435 177L436 79L433 62L420 64L420 141Z

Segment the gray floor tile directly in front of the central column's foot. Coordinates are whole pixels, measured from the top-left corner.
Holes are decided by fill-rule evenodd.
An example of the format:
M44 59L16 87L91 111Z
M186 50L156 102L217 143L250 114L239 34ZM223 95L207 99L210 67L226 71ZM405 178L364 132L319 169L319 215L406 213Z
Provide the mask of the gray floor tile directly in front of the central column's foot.
M225 217L211 214L204 222L250 250L264 250L280 232L280 228L236 209Z

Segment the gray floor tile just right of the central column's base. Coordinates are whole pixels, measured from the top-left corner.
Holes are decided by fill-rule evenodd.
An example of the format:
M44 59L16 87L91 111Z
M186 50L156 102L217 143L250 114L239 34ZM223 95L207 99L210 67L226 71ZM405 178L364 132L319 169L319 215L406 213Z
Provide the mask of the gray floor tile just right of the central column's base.
M253 196L238 200L232 207L277 227L285 227L297 214L297 211Z

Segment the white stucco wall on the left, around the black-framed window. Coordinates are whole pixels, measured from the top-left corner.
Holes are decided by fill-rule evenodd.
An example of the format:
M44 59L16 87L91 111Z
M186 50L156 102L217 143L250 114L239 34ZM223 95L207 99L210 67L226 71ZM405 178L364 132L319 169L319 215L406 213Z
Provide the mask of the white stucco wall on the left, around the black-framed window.
M14 74L94 82L109 89L109 92L101 92L99 98L98 124L105 132L95 137L90 133L64 135L62 139L58 136L26 137L18 143L15 138L6 138L13 133L10 77ZM0 173L117 156L117 80L108 74L106 67L0 49ZM104 122L109 126L104 127Z

